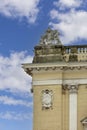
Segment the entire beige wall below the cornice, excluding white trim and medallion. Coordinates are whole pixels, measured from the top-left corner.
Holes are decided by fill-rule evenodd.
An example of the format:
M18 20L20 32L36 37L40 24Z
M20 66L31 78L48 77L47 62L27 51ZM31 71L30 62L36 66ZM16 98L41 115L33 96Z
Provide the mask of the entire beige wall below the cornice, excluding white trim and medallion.
M65 72L40 72L33 74L33 81L51 79L86 79L87 72L83 69ZM42 90L53 90L53 109L42 110ZM69 90L62 85L33 86L34 122L33 130L69 130ZM87 85L79 85L77 104L77 130L83 130L81 120L87 116Z

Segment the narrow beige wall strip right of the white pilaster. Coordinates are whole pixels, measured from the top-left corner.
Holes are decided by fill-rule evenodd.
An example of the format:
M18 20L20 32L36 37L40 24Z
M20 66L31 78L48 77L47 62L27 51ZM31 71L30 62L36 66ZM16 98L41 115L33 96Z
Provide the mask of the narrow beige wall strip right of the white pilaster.
M83 130L81 120L87 117L87 85L79 85L78 90L78 130Z

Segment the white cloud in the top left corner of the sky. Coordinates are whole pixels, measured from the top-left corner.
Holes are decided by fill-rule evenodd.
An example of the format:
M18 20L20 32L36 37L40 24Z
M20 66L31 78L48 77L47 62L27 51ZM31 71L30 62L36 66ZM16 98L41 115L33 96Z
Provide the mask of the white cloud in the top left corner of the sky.
M34 23L38 12L40 0L0 0L0 13L12 18L26 18Z

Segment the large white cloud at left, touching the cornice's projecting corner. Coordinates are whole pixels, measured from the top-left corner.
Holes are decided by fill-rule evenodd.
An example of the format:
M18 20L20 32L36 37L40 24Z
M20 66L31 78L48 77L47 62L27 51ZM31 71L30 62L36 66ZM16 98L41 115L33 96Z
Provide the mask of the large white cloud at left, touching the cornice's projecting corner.
M0 90L12 93L29 93L31 77L22 69L22 63L30 63L32 56L26 52L12 52L9 57L0 56Z

